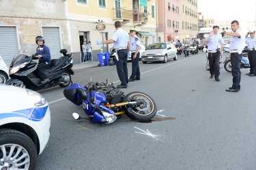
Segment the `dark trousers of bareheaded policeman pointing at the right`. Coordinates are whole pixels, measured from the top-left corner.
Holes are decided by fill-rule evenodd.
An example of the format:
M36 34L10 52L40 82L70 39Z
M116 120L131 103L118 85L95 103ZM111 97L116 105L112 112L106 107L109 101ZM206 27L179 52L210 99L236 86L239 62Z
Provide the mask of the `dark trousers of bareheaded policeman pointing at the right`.
M238 54L238 52L231 53L231 73L233 75L233 85L232 88L235 90L240 89L240 81L241 81L241 71L240 71L240 62L242 60L242 53Z

